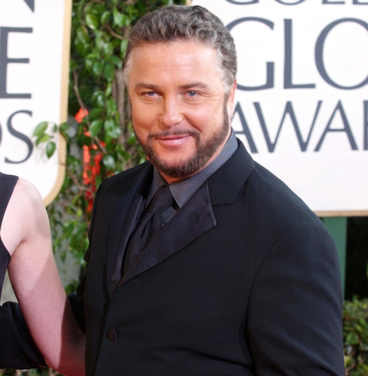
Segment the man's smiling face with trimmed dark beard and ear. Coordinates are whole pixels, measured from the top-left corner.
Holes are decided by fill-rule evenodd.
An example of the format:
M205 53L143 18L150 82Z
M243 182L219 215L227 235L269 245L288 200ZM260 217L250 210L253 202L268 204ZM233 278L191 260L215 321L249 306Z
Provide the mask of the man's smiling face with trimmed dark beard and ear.
M142 44L131 58L138 141L169 183L197 173L230 135L235 85L226 100L216 50L197 41Z

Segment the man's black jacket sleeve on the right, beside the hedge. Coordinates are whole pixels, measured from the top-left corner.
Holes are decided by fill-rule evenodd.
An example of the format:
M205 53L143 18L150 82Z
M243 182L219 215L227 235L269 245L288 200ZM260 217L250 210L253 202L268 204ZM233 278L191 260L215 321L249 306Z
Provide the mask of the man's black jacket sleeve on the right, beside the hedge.
M345 374L339 270L335 244L322 224L299 224L275 241L248 306L255 374Z

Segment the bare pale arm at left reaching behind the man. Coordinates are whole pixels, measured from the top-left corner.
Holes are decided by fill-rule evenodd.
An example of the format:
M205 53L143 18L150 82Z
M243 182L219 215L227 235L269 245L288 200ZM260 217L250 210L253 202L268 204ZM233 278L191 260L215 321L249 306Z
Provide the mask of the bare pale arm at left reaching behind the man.
M1 237L12 256L9 277L30 333L50 367L84 375L85 335L74 318L51 249L41 197L19 179L5 212Z

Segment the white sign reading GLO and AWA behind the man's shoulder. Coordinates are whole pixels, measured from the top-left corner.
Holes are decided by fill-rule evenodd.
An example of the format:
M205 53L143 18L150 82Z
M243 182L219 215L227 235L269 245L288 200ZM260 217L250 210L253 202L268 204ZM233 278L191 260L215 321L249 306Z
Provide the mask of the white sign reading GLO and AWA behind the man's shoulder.
M238 53L232 126L319 215L368 215L368 0L193 0Z

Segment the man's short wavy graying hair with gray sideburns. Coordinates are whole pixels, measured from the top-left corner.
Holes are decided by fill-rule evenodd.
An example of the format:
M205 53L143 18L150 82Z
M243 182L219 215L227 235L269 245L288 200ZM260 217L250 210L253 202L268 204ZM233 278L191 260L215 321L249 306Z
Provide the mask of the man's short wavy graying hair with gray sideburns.
M128 84L132 50L142 43L194 39L217 50L221 62L224 89L229 94L236 77L234 40L224 24L201 6L169 5L145 14L132 27L124 64L124 81Z

